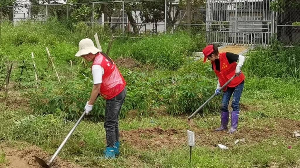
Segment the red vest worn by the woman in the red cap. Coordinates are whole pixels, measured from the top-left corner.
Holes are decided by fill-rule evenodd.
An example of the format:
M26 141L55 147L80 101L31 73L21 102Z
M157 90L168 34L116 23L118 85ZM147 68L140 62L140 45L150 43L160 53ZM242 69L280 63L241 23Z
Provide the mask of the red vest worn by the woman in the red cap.
M235 68L238 65L236 62L232 62L229 64L228 59L226 57L226 53L219 54L220 59L220 71L216 70L216 64L212 61L212 65L214 67L214 73L216 73L219 78L220 85L223 86L231 77L235 75ZM223 91L227 90L227 87L234 88L239 85L245 76L241 73L238 77L235 77L226 87L223 88Z

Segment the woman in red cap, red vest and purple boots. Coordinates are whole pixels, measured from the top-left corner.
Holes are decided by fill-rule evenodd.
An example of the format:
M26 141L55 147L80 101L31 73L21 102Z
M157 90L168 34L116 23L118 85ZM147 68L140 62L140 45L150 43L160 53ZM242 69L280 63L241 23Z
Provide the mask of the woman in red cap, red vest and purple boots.
M204 62L208 58L211 61L211 68L218 77L218 84L215 94L221 93L220 89L231 77L236 77L223 88L223 97L221 103L221 126L216 131L227 129L229 120L228 104L232 96L232 112L231 112L231 128L229 133L236 131L238 127L239 101L244 88L245 76L241 72L241 67L245 57L232 53L219 53L217 46L208 45L202 50L204 54Z

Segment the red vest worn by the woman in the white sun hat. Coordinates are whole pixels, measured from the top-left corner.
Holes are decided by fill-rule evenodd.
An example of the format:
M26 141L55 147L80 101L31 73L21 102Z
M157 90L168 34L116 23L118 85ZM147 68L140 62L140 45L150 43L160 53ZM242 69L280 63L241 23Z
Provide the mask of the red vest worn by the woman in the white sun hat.
M113 62L112 65L103 54L104 53L101 52L96 55L93 65L101 65L104 69L99 91L101 96L104 99L112 99L123 91L126 82L116 64Z

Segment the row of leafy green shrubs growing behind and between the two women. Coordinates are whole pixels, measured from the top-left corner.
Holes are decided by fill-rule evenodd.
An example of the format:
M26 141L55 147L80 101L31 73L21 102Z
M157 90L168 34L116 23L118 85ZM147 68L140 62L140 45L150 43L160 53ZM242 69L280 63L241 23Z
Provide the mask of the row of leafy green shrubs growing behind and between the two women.
M196 66L197 64L199 65ZM149 115L162 105L167 106L167 112L170 114L190 113L197 109L213 94L216 82L205 77L205 72L196 72L201 69L208 71L209 65L202 62L190 65L186 71L182 68L178 72L145 73L120 69L127 82L127 96L122 106L121 117L134 109L140 114ZM60 85L44 83L36 92L32 92L32 108L38 114L56 113L67 119L77 119L90 97L92 88L90 69L85 75ZM102 98L96 100L90 113L93 120L99 120L104 116L104 101ZM218 101L216 99L209 103L205 107L205 112L216 108Z

